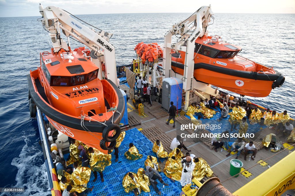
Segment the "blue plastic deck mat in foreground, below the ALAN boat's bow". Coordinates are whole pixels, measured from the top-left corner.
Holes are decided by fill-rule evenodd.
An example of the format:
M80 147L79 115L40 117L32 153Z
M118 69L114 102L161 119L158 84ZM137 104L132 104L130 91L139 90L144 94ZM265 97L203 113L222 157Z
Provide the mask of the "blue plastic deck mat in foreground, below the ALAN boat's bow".
M127 160L124 153L129 149L129 143L133 143L143 157L139 160L131 161ZM104 182L101 182L101 178L98 175L96 182L92 182L94 179L93 172L91 172L90 180L87 187L94 186L92 192L88 192L88 196L124 196L134 195L133 192L126 193L122 186L122 179L127 172L135 172L142 167L145 169L144 162L149 155L156 156L152 151L153 143L150 142L138 129L130 129L126 131L126 136L119 147L119 159L115 162L114 151L112 152L112 165L105 168L103 171ZM65 159L69 154L64 155ZM164 161L164 159L161 159ZM165 186L158 182L158 188L162 192L163 196L179 196L181 192L181 185L175 181L172 183L171 180L165 176L163 172L159 173L162 179L169 186ZM152 186L150 186L150 192L142 192L140 195L158 195Z

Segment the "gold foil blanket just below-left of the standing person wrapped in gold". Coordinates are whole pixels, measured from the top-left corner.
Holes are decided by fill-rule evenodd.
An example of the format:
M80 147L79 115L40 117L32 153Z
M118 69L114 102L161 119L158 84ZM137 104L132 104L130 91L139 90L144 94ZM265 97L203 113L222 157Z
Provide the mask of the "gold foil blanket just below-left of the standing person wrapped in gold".
M74 185L86 187L89 182L91 169L89 167L77 167L72 173Z

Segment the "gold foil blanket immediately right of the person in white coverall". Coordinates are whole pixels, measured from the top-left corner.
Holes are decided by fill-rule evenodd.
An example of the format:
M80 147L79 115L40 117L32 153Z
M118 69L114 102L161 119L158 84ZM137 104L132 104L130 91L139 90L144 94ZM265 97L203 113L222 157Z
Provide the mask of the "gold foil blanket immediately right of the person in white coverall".
M196 166L193 171L193 177L197 180L202 180L205 175L207 177L211 177L213 171L211 170L210 166L208 165L207 161L203 158L199 157L199 162L195 162Z

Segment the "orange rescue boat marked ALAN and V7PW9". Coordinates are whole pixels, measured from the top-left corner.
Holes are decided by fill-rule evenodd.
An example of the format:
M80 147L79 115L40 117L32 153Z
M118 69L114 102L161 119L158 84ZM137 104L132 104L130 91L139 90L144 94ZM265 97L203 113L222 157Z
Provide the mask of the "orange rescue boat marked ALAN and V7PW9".
M68 49L40 53L40 67L27 75L31 117L37 106L59 132L107 153L121 133L124 97L112 81L97 78L90 51Z

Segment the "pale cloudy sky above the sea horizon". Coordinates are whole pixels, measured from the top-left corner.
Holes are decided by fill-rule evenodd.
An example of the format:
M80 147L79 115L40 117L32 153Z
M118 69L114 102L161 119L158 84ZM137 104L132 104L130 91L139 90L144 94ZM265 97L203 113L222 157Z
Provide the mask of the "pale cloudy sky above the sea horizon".
M185 4L184 4L185 2ZM211 4L214 13L295 14L295 0L0 0L0 17L39 16L39 3L78 14L193 13Z

